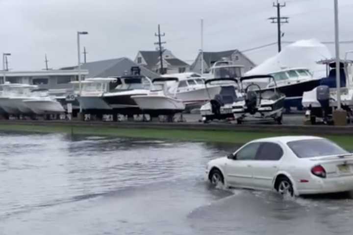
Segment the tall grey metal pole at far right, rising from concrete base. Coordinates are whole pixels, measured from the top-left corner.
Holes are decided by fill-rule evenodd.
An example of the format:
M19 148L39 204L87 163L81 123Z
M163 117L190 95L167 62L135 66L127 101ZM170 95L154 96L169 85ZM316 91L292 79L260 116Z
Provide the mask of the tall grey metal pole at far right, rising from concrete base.
M341 84L340 84L340 53L339 53L339 28L338 28L338 0L334 0L334 24L335 24L335 50L336 50L336 89L337 109L341 109Z

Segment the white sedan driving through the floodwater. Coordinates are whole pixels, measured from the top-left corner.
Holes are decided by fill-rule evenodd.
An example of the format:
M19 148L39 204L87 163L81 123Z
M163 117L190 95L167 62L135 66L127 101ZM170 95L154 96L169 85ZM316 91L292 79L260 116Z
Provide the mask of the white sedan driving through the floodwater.
M301 195L353 190L353 154L324 138L286 136L251 141L210 161L205 179L226 187Z

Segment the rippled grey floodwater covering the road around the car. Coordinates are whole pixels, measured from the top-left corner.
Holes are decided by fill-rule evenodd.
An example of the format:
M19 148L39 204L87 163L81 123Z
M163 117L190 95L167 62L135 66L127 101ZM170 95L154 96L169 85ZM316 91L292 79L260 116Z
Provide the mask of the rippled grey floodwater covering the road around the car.
M0 235L351 235L350 195L285 199L212 188L238 146L0 135Z

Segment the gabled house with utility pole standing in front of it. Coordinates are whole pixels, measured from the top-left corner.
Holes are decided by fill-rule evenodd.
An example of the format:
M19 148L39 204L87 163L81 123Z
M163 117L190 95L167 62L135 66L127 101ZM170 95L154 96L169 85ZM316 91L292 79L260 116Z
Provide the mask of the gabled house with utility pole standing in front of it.
M163 52L163 74L181 73L190 71L190 65L176 58L170 50ZM135 63L144 66L151 71L161 73L159 51L140 50L135 58Z

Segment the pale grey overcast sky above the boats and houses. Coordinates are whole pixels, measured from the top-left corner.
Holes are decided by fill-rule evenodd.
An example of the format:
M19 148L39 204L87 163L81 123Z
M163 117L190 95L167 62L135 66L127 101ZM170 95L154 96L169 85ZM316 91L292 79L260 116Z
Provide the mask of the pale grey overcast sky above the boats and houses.
M200 19L204 19L204 50L245 50L276 42L272 0L0 0L0 48L10 52L11 70L40 70L47 53L50 68L77 64L76 31L88 61L129 57L153 50L154 32L177 57L192 63L200 49ZM281 2L284 2L283 0ZM334 40L333 0L287 0L282 15L284 41ZM353 1L339 0L340 40L353 40ZM330 48L333 48L330 46ZM343 45L345 50L353 44ZM247 55L260 63L277 47ZM334 51L332 51L334 52Z

